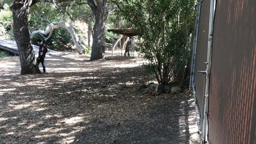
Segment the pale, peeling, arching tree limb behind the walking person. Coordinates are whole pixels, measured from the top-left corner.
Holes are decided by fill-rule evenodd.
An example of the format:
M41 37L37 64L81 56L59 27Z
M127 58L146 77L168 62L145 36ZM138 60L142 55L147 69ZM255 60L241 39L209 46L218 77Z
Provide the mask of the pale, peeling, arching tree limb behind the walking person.
M37 31L33 31L30 34L30 38L32 38L36 33L41 33L41 34L49 34L49 36L45 39L46 41L50 38L50 36L52 36L53 30L54 28L60 28L60 27L64 27L66 28L66 30L68 30L68 32L71 34L71 37L75 43L76 49L78 50L79 54L83 53L83 47L81 45L81 42L79 41L79 38L77 36L77 34L75 33L74 29L69 25L68 22L65 21L59 21L59 22L53 22L50 23L49 25L47 25L46 30L42 31L42 30L37 30Z

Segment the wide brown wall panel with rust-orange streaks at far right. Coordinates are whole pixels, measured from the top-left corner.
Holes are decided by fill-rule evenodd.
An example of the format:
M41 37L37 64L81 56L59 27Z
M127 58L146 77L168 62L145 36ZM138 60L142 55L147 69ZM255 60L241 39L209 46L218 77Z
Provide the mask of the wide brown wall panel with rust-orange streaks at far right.
M217 0L210 74L209 142L256 144L255 131L256 0Z

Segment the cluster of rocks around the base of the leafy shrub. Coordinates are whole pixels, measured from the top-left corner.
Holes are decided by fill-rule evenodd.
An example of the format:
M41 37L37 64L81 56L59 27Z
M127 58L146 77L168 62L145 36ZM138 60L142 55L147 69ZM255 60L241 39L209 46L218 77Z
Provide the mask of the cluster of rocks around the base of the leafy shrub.
M142 92L143 94L153 92L155 95L159 94L178 94L181 92L181 88L177 86L163 86L161 84L142 84L139 86L138 90Z

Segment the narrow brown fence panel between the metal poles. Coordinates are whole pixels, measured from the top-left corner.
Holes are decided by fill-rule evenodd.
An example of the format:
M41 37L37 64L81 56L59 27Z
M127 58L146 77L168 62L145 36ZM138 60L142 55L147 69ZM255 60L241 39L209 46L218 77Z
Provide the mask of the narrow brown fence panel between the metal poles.
M201 5L200 19L198 25L197 50L196 50L196 68L195 68L195 87L196 96L200 113L202 109L202 100L204 95L204 74L197 71L205 71L207 47L208 47L208 30L209 30L209 11L210 0L204 0Z

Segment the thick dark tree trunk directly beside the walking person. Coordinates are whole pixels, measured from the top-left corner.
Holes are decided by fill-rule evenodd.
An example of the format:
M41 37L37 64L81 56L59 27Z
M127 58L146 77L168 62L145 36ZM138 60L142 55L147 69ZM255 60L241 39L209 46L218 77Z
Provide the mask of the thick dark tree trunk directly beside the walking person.
M14 21L14 37L20 54L21 75L41 74L35 61L35 55L28 31L28 11L31 5L32 0L15 0L10 7Z

